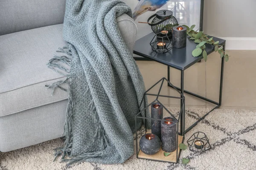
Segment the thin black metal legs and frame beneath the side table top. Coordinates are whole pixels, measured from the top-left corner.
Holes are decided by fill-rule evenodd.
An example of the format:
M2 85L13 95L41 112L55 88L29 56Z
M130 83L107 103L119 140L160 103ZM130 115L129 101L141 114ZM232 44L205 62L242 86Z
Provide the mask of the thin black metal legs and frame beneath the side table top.
M225 42L221 45L223 45L223 50L225 51ZM198 124L198 122L200 122L201 120L203 120L209 113L211 113L214 109L217 109L219 107L221 107L221 103L222 103L222 88L223 88L223 73L224 73L224 62L225 62L225 59L224 57L221 58L221 79L220 79L220 92L219 92L219 101L218 102L215 102L211 99L207 99L206 97L203 97L203 96L199 96L198 94L194 94L190 91L186 91L184 90L184 71L185 70L180 70L181 74L180 74L180 88L178 88L177 86L175 86L176 89L178 89L180 91L181 94L189 94L189 95L192 95L192 96L195 96L199 99L202 99L202 100L205 100L207 102L210 102L210 103L213 103L215 105L217 105L215 108L213 108L211 111L209 111L208 113L206 113L204 116L202 116L198 121L196 121L193 125L191 125L190 127L188 127L186 130L185 130L185 105L184 105L184 112L181 114L181 123L180 123L180 129L184 129L184 130L181 130L181 132L184 131L184 134L186 134L189 130L191 130L193 127L195 127L195 125ZM167 79L168 81L170 81L170 66L167 66ZM172 86L168 85L169 87L172 88ZM183 134L181 134L183 135Z

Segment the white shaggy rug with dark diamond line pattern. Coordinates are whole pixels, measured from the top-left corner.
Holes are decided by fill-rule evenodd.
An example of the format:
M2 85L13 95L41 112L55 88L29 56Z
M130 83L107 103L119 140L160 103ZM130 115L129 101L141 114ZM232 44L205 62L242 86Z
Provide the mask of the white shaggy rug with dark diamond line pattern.
M174 113L175 108L170 108ZM188 108L186 127L204 115L209 109ZM124 164L65 163L53 162L53 148L62 144L55 139L34 146L0 153L1 170L255 170L256 169L256 111L217 109L210 113L196 127L185 135L197 132L206 133L212 146L205 153L181 151L178 164L137 159L136 155ZM140 135L143 130L140 130ZM182 164L182 158L190 159Z

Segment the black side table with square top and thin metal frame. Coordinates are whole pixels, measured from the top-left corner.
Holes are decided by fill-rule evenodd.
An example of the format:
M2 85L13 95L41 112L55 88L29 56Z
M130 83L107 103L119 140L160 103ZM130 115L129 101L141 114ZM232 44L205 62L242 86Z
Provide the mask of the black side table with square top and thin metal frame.
M198 97L200 99L203 99L207 102L211 102L215 105L217 105L215 108L213 108L211 111L206 113L204 116L202 116L197 122L195 122L193 125L191 125L189 128L185 130L185 105L183 108L183 112L180 115L180 135L183 135L187 133L189 130L192 129L195 125L198 124L202 119L205 118L210 112L212 112L214 109L219 108L221 106L221 98L222 98L222 86L223 86L223 72L224 72L224 57L221 59L221 79L220 79L220 93L219 93L219 101L215 102L211 99L207 99L206 97L199 96L197 94L194 94L192 92L184 90L184 71L189 68L190 66L194 65L196 62L201 61L203 59L203 56L199 57L193 57L192 51L195 49L195 46L197 45L194 40L187 40L186 41L186 47L185 48L172 48L169 52L164 54L159 54L154 51L152 51L151 46L149 45L150 41L154 37L154 33L150 33L146 35L145 37L140 38L135 42L134 45L134 54L137 54L141 57L145 57L148 59L151 59L156 62L160 62L161 64L167 65L167 71L168 71L168 81L170 81L170 67L175 68L177 70L180 70L181 75L181 83L180 88L176 87L178 90L180 90L181 94L187 93L192 96ZM189 37L187 37L189 38ZM217 37L213 37L214 41L219 41L219 45L223 45L223 50L225 51L225 42L226 40L222 40ZM206 44L205 50L207 51L207 54L210 54L214 51L214 46Z

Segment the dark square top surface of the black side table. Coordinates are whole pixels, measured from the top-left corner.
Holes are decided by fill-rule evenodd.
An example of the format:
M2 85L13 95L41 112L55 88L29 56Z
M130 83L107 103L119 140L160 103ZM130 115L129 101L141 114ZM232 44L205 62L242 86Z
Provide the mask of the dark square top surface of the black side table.
M149 43L153 39L154 35L155 34L152 32L137 40L134 45L134 54L154 60L156 62L160 62L164 65L168 65L178 70L186 70L196 62L203 59L203 55L200 55L198 57L192 56L192 51L196 48L196 45L198 44L195 43L194 40L189 40L189 36L187 37L186 47L184 48L172 48L170 51L164 54L152 51L152 48ZM219 45L224 45L226 41L217 37L213 37L213 40L219 41ZM214 45L205 45L205 50L207 54L210 54L214 51Z

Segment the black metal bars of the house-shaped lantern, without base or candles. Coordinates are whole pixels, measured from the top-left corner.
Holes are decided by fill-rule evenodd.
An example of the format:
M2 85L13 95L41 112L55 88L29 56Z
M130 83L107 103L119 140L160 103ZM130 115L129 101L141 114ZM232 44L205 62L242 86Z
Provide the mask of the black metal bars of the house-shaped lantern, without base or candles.
M170 85L172 88L174 88L179 94L180 94L180 97L176 97L176 96L165 96L165 95L160 95L160 91L161 91L161 89L162 89L162 87L163 87L163 82L166 80L166 82L168 83L168 85ZM159 88L159 91L158 91L158 93L157 94L148 94L148 91L150 91L152 88L154 88L158 83L160 83L161 82L161 85L160 85L160 88ZM156 96L157 98L153 101L153 102L151 102L150 104L148 104L147 106L146 106L146 101L145 101L145 99L146 99L146 97L145 96ZM168 109L161 103L161 102L159 102L159 100L158 100L158 98L159 97L168 97L168 98L174 98L174 99L180 99L181 100L181 103L180 103L180 113L179 113L179 117L178 117L178 119L170 112L170 111L168 111ZM164 120L164 119L154 119L154 118L149 118L149 117L146 117L146 113L145 113L145 111L146 111L146 109L149 107L149 106L151 106L151 104L153 104L154 102L158 102L158 103L160 103L161 105L163 105L163 109L165 109L173 118L175 118L175 120L173 120L173 121L169 121L169 122L176 122L177 123L177 141L176 141L176 162L172 162L172 161L161 161L161 162L169 162L169 163L178 163L178 160L179 160L179 158L180 158L180 153L178 154L178 136L180 135L180 134L183 134L183 135L180 135L180 136L183 136L183 139L182 139L182 143L184 142L184 139L185 139L185 137L184 137L184 132L179 132L179 121L181 120L180 118L181 118L181 113L183 112L183 109L185 108L184 107L184 104L185 104L185 97L184 97L184 95L183 94L181 94L180 93L180 91L178 91L176 88L175 88L175 86L174 85L172 85L172 83L170 83L165 77L163 77L162 79L160 79L158 82L156 82L151 88L149 88L147 91L145 91L145 93L144 93L144 95L143 95L143 99L141 100L141 102L140 102L140 106L139 106L139 108L138 108L138 111L137 111L137 114L136 114L136 116L135 116L135 127L136 127L136 136L135 136L135 139L136 139L136 156L137 156L137 159L145 159L145 158L140 158L139 157L139 152L140 152L140 150L138 151L138 135L137 135L137 119L138 118L140 118L140 119L145 119L145 134L147 133L147 121L146 121L146 119L149 119L149 120L159 120L159 121L166 121L166 120ZM141 108L141 106L142 106L142 104L144 103L144 108L142 109L142 110L140 110L140 108ZM142 116L140 116L140 113L142 113L142 112L144 112L145 113L145 117L142 117ZM180 130L182 130L182 129L180 129ZM181 151L181 150L180 150ZM159 160L155 160L155 159L147 159L147 160L153 160L153 161L159 161Z

